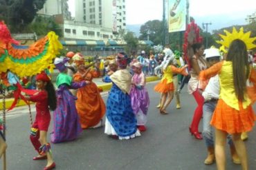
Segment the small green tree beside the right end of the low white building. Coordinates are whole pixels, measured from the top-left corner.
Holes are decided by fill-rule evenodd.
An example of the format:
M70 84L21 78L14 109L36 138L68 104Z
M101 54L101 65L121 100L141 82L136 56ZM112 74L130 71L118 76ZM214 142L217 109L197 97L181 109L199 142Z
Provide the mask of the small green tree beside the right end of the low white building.
M126 52L131 52L131 51L136 51L137 47L138 47L138 38L134 35L134 32L130 32L128 31L125 36L124 39L127 43L126 47L125 47L125 51Z

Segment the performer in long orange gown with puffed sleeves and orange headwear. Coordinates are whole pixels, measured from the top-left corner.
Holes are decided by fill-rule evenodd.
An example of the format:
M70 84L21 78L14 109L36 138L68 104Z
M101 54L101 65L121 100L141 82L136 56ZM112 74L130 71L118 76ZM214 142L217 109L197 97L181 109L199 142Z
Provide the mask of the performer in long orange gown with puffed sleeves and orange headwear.
M102 126L102 118L106 111L99 89L93 83L93 78L98 77L99 72L91 70L90 66L85 66L83 58L80 58L78 71L73 77L75 82L90 81L89 84L77 91L75 106L80 117L82 129Z

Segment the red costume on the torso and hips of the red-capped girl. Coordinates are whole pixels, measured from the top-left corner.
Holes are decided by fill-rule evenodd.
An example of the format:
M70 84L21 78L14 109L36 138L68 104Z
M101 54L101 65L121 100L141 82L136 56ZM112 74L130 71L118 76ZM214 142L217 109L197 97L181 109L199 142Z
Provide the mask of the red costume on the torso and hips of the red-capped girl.
M51 121L50 111L48 109L48 94L46 91L40 91L37 94L30 96L30 100L35 102L37 114L32 127L39 131L48 131Z

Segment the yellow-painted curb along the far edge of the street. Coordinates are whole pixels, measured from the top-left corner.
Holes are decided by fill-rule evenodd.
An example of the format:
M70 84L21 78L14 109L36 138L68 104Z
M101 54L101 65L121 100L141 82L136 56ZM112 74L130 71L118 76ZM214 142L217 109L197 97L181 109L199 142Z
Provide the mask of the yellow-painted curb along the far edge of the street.
M146 77L146 82L150 82L150 81L158 81L160 80L160 78L158 78L157 76L149 76ZM103 92L108 91L109 89L111 89L112 87L112 83L106 83L104 85L97 85L99 88L102 88ZM13 98L6 98L6 109L10 108L10 106L12 105L13 102ZM24 102L24 100L19 100L17 102L16 107L18 106L24 106L26 105L26 103ZM0 100L0 109L3 109L3 100Z

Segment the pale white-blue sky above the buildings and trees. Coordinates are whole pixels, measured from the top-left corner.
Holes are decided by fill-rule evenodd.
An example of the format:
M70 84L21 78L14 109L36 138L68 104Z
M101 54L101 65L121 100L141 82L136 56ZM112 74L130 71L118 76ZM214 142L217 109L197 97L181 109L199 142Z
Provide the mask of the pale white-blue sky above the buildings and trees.
M73 1L68 0L72 15ZM106 0L104 0L106 1ZM149 20L163 19L163 0L126 0L127 25L143 24ZM248 14L256 12L255 0L190 0L190 16L197 24L212 23L213 28L228 24L245 24Z

